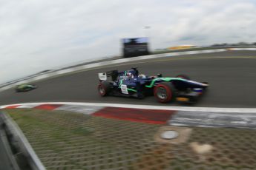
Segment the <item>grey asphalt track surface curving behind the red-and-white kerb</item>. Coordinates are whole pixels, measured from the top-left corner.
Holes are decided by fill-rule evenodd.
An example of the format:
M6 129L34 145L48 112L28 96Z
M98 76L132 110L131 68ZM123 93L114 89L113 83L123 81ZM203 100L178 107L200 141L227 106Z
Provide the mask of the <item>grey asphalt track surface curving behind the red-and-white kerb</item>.
M181 103L158 103L155 98L143 100L98 95L97 73L112 69L125 70L138 67L145 75L163 73L163 77L186 74L194 81L209 82L206 95L192 106L249 107L256 106L256 51L226 51L195 55L154 58L126 64L95 68L48 78L36 85L38 89L16 93L14 89L0 92L0 105L10 103L73 101L100 103L131 103L160 106L191 106Z

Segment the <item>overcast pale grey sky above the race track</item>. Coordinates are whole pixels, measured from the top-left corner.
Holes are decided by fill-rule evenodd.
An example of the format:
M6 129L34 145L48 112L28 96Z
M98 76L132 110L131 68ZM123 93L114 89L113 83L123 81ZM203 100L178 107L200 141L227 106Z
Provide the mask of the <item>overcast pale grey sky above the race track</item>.
M122 38L148 36L152 50L255 42L255 27L256 4L248 0L1 0L0 84L120 55Z

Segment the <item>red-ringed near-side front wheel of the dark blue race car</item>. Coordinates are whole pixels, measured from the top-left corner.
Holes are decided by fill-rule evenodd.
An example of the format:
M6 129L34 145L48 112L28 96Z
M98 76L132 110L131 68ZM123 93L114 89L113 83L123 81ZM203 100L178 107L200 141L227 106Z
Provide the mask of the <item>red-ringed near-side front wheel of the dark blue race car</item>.
M154 87L154 97L160 103L168 103L175 100L175 91L171 83L163 82Z

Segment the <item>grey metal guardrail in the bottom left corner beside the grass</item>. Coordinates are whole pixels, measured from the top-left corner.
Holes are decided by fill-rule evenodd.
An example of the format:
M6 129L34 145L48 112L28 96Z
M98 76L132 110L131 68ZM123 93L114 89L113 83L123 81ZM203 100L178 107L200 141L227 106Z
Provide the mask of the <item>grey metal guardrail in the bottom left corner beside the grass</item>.
M7 134L12 150L16 154L16 162L20 169L45 170L45 166L33 151L27 138L23 135L19 126L4 112L0 114L1 125Z

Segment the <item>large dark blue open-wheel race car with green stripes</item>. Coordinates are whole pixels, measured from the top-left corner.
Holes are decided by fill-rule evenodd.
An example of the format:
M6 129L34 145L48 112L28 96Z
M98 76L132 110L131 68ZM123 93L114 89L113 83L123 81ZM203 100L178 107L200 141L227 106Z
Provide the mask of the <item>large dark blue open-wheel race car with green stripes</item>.
M154 95L161 103L172 101L194 103L209 86L206 82L191 81L186 75L177 75L174 78L163 78L162 74L142 75L137 68L123 72L118 70L101 72L98 76L100 81L98 91L101 96L145 98ZM110 81L108 77L111 77Z

